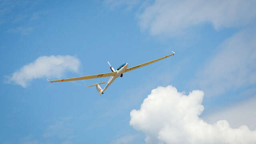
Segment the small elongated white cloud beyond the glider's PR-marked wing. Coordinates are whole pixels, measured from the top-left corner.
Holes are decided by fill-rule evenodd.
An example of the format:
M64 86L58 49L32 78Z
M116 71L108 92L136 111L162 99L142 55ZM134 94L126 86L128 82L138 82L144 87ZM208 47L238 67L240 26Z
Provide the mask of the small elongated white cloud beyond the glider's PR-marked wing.
M36 78L59 78L65 71L78 72L80 61L73 56L40 56L12 74L6 76L6 83L27 87Z

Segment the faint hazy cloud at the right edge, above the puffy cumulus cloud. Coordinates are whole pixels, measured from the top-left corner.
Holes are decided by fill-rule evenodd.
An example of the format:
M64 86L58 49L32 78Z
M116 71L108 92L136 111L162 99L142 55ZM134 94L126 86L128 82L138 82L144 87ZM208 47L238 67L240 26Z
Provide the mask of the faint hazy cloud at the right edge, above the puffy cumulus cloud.
M211 95L256 84L256 28L246 28L224 41L198 70L200 88Z

